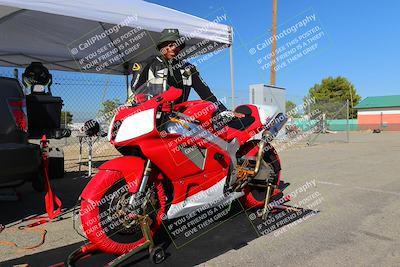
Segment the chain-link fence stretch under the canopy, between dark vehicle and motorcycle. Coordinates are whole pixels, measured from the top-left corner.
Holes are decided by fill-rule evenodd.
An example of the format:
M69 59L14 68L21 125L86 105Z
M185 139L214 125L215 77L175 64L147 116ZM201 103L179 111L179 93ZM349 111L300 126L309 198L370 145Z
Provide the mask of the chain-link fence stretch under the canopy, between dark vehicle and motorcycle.
M21 81L23 69L0 68L2 77L18 77ZM63 107L61 113L61 127L71 130L71 136L63 139L51 139L51 147L59 147L64 151L65 170L78 171L79 161L82 161L82 171L87 170L89 141L93 143L93 166L97 167L104 161L119 156L118 151L109 144L107 137L82 138L84 122L90 119L99 120L101 130L107 132L107 120L104 113L111 107L105 107L103 103L124 103L127 96L125 76L80 74L61 71L52 71L53 84L51 92L53 96L61 97ZM29 93L24 88L25 93ZM103 112L102 112L103 110ZM81 138L79 138L81 137ZM30 140L39 143L39 140Z

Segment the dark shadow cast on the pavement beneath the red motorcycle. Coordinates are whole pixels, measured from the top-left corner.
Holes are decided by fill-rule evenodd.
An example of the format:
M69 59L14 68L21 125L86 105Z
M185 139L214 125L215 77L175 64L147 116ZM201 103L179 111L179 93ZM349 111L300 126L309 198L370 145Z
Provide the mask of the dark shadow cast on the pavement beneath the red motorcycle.
M204 211L205 213L207 211ZM312 210L302 210L301 212L280 212L271 214L267 221L252 217L254 210L244 211L241 204L236 202L225 217L221 217L214 222L217 227L210 227L208 231L196 236L190 242L181 242L182 246L177 246L179 239L185 239L184 234L176 235L171 238L167 233L169 225L158 234L156 243L161 245L166 252L166 259L158 266L193 266L213 259L229 250L237 250L246 246L248 242L260 237L263 234L276 234L282 232L288 224L297 220L301 221L306 216L317 214ZM278 215L279 214L279 215ZM201 214L199 214L201 216ZM174 222L170 222L173 224ZM275 225L275 227L272 227ZM273 229L272 231L269 231ZM167 240L167 241L166 241ZM34 255L24 256L18 259L3 262L0 266L13 266L17 264L29 264L29 266L63 266L67 256L77 248L83 245L83 242L57 249L40 252ZM88 256L78 261L76 266L104 266L113 260L116 256L104 253L98 253ZM152 265L149 260L148 251L144 250L131 257L129 261L121 266L149 266Z

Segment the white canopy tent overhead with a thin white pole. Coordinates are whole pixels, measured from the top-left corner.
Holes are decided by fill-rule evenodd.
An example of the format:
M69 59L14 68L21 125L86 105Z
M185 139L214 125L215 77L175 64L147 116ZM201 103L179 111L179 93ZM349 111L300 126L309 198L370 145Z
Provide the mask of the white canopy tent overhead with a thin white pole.
M52 70L127 75L156 53L164 28L179 29L182 58L225 47L232 56L231 27L140 0L0 0L0 66L40 61Z

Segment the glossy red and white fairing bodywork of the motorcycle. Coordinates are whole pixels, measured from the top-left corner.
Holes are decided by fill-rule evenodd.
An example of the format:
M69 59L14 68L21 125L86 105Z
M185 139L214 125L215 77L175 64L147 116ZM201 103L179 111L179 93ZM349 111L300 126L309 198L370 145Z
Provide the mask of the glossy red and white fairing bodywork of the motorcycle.
M116 146L139 146L143 155L153 164L155 164L155 166L157 166L157 168L165 175L165 177L171 180L174 188L172 205L182 206L182 208L179 208L179 210L182 211L171 211L171 216L177 216L173 214L182 214L182 212L188 212L190 207L202 205L201 201L210 201L210 199L207 200L207 198L213 197L213 194L210 192L216 191L213 189L214 186L219 183L222 183L224 186L226 186L227 177L229 177L229 185L232 184L236 180L234 177L235 172L229 172L236 166L236 152L239 145L251 138L254 132L261 131L263 127L260 119L258 119L260 117L259 108L254 105L245 105L245 108L249 110L248 114L245 115L254 116L257 119L254 121L254 123L250 124L249 127L246 127L246 129L242 131L227 127L227 133L228 136L230 135L230 137L225 140L230 140L230 143L203 129L198 124L193 124L190 122L185 123L190 129L195 129L193 135L185 136L182 135L182 133L168 133L164 136L161 136L157 129L158 126L155 127L157 107L167 101L173 101L180 94L181 90L170 88L167 92L153 97L138 107L121 110L114 118L114 121L120 120L122 121L123 125L125 120L129 122L130 116L135 116L137 113L145 111L148 112L149 120L154 127L152 127L151 130L146 131L145 134L136 137L133 135L131 139L125 138L121 142L117 142L118 140L112 140L111 142ZM198 103L202 104L201 107L203 108L208 107L206 103ZM183 111L187 111L182 106L183 105L181 105L180 108ZM196 110L198 110L196 109L196 103L191 103L189 106L191 108L189 109L191 110L190 113L196 114ZM208 113L203 114L201 117L201 119L210 118L211 115ZM140 124L126 125L130 128L140 127ZM200 138L193 138L196 135L200 136ZM200 149L203 149L205 151L205 156L203 155L204 164L194 162L191 158L192 156L189 156L187 153L183 153L181 151L183 144L196 146ZM127 164L131 165L132 163ZM143 166L144 162L141 163L141 171L137 172L138 177L136 177L136 185L140 184L141 182ZM219 189L219 187L216 188ZM222 193L221 191L218 192L219 194L223 195L223 191ZM185 201L185 199L193 198L199 194L205 194L205 196L208 197L189 206L181 203L182 201ZM213 199L211 199L211 201L212 200ZM178 209L178 206L173 207ZM184 208L185 206L188 208Z

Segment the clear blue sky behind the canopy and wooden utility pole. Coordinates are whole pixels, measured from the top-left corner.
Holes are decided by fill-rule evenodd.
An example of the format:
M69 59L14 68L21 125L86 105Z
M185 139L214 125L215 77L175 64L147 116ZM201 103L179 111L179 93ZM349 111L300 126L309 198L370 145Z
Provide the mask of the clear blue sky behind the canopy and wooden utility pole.
M269 69L261 69L257 59L266 56L270 48L259 51L255 56L249 53L249 49L270 37L272 0L149 2L211 20L217 15L227 15L226 24L232 25L235 30L236 103L248 102L249 84L269 83ZM399 10L400 1L395 0L278 0L278 33L305 16L315 14L316 21L304 29L318 26L323 37L317 41L318 49L277 72L276 85L286 88L287 99L296 103L301 102L315 83L338 75L348 78L363 98L400 94ZM278 40L278 47L285 46L291 38L303 32L299 30ZM228 49L199 64L198 69L218 97L230 96ZM0 75L4 72L0 68ZM12 73L12 70L7 72ZM125 97L125 89L120 88L120 84L124 83L123 77L89 75L91 82L77 86L76 81L84 75L54 73L58 83L53 86L54 94L63 97L64 108L75 114L75 121L95 117L104 99L122 100ZM192 95L192 98L196 96ZM227 101L230 102L229 99Z

